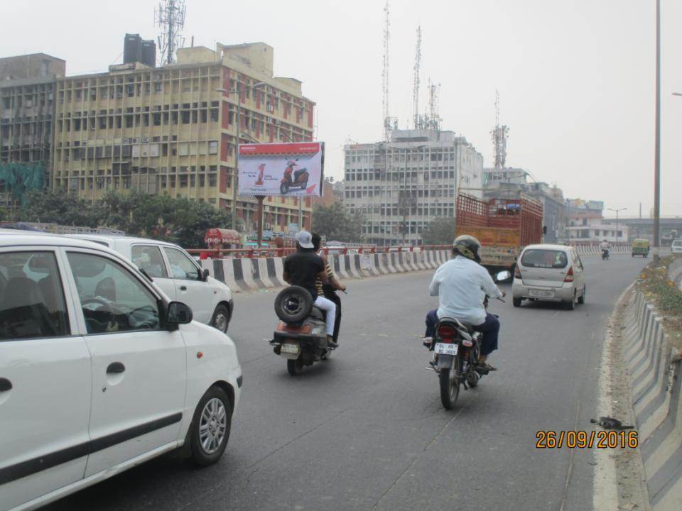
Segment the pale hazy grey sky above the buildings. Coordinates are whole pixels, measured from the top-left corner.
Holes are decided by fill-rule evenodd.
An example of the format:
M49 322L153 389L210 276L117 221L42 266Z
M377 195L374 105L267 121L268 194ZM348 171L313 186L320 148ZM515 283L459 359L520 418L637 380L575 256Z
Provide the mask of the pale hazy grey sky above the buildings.
M121 62L124 33L156 38L156 1L1 0L0 56L44 52L67 74ZM420 103L441 84L443 128L492 162L494 93L509 125L507 165L566 197L644 216L653 207L655 0L392 0L390 109L411 118L416 27ZM187 0L187 44L264 41L275 73L317 102L327 172L348 139L381 138L384 0ZM682 215L682 2L661 0L662 214ZM677 34L677 35L676 35ZM608 211L607 211L608 212Z

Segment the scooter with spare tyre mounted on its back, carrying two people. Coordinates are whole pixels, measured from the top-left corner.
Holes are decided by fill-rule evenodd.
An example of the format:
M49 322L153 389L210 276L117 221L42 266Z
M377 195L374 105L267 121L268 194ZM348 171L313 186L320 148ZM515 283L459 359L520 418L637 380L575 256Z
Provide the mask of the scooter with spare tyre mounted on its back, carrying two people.
M335 348L327 344L325 313L315 307L308 290L286 287L275 299L275 312L280 322L269 343L276 355L286 358L291 376L330 357Z

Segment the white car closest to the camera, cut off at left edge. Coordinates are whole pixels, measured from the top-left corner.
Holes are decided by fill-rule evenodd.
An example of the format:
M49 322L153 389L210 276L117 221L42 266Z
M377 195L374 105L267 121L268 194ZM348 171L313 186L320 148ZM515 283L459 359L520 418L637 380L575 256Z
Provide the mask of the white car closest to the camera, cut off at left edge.
M0 229L0 510L168 451L215 463L239 404L232 340L109 248Z

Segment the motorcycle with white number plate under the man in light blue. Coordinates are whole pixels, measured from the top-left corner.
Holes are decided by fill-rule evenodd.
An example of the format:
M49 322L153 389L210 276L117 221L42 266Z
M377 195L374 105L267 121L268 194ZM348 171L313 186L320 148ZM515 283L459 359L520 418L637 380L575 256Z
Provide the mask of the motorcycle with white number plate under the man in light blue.
M497 274L495 280L502 282L511 277L508 271ZM498 298L504 302L502 298ZM488 307L488 297L483 302ZM474 331L472 325L455 318L440 318L435 326L431 344L433 361L431 368L438 375L440 402L445 410L452 410L457 404L460 387L475 388L488 370L480 368L481 340L483 334Z

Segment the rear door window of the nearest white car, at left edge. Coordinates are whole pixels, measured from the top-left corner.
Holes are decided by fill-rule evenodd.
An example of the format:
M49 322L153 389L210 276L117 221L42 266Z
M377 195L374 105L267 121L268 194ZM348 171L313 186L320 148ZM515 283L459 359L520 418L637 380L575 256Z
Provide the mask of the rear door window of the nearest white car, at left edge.
M68 334L55 254L0 253L0 341Z

